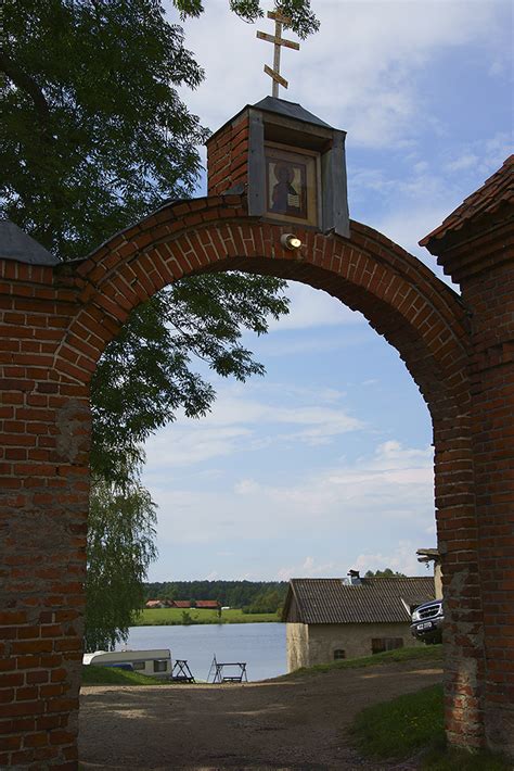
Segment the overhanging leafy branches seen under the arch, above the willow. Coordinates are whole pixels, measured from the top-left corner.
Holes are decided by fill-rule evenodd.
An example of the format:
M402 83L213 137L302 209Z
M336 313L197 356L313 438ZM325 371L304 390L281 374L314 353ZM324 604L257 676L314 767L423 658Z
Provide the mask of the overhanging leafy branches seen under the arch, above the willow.
M132 312L92 381L92 467L118 483L127 457L141 462L141 443L174 420L179 408L200 417L215 400L193 367L245 380L264 367L241 344L243 329L266 332L268 318L287 313L281 283L237 273L178 281Z

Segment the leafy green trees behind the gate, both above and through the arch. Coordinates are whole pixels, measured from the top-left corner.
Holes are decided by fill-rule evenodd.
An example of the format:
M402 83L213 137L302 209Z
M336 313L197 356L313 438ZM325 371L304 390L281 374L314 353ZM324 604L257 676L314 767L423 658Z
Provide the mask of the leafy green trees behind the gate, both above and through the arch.
M200 0L175 0L177 22ZM300 36L309 0L279 0ZM230 0L245 21L256 0ZM203 71L158 0L3 0L0 200L3 216L61 260L90 250L163 204L194 192L208 136L179 98ZM138 469L141 442L179 408L215 399L192 366L240 380L262 367L241 344L286 312L284 282L239 274L180 281L137 308L92 383L93 491L88 535L87 645L123 640L155 556L155 506ZM129 608L129 606L131 606Z

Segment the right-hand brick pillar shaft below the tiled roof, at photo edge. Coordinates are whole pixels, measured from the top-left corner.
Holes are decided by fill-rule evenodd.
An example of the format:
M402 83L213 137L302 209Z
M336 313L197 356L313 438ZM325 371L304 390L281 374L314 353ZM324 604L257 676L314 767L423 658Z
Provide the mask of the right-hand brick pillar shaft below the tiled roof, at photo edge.
M490 747L514 756L514 258L462 282L473 308L473 433Z

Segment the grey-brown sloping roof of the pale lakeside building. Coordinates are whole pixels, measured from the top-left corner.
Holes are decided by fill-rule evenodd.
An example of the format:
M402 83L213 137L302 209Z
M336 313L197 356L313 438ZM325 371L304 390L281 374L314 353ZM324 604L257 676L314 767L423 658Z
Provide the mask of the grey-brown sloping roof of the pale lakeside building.
M363 578L354 585L342 579L291 579L285 620L293 597L301 623L409 622L403 602L409 607L433 599L434 579Z

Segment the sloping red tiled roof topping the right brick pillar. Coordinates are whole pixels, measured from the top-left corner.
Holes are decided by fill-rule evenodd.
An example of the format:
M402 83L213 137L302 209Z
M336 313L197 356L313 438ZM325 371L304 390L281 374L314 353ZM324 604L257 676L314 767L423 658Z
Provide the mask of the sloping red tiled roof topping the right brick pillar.
M425 236L420 245L426 247L433 239L438 240L449 232L460 230L472 219L493 214L503 203L514 203L514 155L510 155L503 166L481 188L468 195L442 225Z

